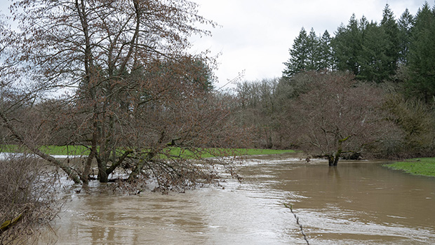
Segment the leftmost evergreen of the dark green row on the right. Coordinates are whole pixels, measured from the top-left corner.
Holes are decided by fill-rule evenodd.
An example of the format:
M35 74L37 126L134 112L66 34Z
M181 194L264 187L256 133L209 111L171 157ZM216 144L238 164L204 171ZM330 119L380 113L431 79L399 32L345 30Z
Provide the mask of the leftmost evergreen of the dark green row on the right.
M299 32L299 36L295 38L292 48L290 48L290 58L288 62L284 62L286 68L283 71L283 76L290 78L291 76L299 73L300 71L307 70L307 60L308 60L308 36L307 31L304 27Z

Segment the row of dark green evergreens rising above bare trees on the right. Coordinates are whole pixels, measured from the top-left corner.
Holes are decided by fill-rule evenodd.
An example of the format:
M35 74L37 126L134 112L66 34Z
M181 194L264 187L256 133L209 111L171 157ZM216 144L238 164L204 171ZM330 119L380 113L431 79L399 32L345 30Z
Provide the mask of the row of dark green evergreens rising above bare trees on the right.
M385 6L380 22L355 15L331 37L304 28L290 48L283 76L301 71L350 71L359 80L402 83L408 97L429 102L435 95L435 8L428 3L395 19Z

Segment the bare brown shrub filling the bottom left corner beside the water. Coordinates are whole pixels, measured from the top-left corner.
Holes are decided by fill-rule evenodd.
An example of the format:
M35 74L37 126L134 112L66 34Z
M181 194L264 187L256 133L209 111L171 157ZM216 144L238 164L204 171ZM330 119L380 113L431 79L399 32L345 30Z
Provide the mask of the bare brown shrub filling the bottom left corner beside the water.
M0 244L26 244L58 214L57 178L41 161L18 155L0 161L0 179Z

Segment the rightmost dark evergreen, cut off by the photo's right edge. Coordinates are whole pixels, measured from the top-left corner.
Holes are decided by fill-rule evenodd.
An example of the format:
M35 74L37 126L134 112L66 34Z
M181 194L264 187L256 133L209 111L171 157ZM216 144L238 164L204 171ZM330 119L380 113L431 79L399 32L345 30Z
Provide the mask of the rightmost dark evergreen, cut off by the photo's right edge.
M435 97L435 13L428 3L415 16L411 38L407 92L429 102Z

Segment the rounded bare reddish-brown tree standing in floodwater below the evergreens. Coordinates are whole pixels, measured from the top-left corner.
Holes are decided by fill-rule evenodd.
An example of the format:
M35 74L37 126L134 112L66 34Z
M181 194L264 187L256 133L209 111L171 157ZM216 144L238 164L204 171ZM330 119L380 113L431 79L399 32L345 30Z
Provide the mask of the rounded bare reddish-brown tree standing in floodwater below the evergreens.
M344 73L307 73L309 91L291 102L293 136L305 151L336 166L344 153L361 153L382 141L391 125L380 111L381 90Z

